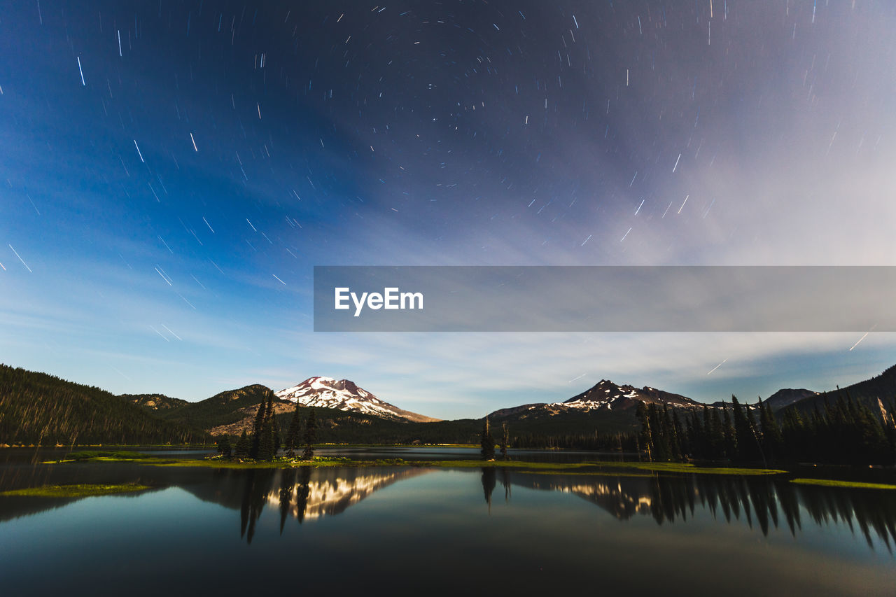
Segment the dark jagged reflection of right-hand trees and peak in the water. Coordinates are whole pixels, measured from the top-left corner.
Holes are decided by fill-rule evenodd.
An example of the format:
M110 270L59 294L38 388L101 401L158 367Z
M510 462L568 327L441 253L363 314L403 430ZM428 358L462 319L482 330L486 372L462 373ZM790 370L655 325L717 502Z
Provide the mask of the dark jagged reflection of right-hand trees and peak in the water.
M790 533L802 529L800 511L814 523L846 524L861 532L874 549L874 537L892 550L896 541L896 500L889 491L798 486L788 480L768 477L691 475L649 479L512 473L513 482L533 489L573 493L627 520L650 515L658 524L694 517L699 506L713 518L728 523L742 520L758 526L763 535L769 528L787 524Z

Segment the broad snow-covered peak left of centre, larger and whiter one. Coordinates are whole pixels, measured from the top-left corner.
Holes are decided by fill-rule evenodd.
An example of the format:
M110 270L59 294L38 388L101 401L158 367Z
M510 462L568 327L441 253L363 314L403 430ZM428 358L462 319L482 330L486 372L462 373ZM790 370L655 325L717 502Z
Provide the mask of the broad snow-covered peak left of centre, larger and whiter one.
M348 379L337 381L332 377L308 377L301 384L285 388L275 394L281 400L298 402L303 406L362 412L389 420L415 423L438 420L416 412L404 411L389 402L384 402Z

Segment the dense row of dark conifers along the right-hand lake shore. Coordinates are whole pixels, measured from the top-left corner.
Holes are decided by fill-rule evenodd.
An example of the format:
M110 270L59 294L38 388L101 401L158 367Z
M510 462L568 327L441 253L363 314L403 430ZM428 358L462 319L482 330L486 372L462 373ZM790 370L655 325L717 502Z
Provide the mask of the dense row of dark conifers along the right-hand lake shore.
M742 405L680 413L668 405L641 403L638 450L651 461L729 460L736 463L892 464L896 462L896 425L890 411L880 416L849 394L804 417L796 408L772 413L759 400Z

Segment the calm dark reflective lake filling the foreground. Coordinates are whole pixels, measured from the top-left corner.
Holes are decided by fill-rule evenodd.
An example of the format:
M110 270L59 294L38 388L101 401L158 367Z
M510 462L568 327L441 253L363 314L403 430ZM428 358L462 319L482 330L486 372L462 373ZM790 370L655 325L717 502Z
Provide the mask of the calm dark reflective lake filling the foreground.
M459 449L442 456L457 459ZM151 489L0 497L4 595L896 588L896 492L887 490L705 474L39 463L58 456L0 452L0 491L131 481Z

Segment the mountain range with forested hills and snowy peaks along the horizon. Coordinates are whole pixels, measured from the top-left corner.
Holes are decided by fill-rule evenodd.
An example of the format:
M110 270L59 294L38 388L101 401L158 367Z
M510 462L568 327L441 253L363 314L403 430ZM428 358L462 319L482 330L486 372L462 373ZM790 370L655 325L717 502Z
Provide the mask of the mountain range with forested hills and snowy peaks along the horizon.
M782 389L766 402L779 418L788 409L805 417L815 409L824 411L825 402L833 404L847 395L883 420L891 418L896 411L896 367L839 392ZM203 442L208 434L234 436L251 431L259 404L268 400L281 430L289 427L296 404L302 410L314 410L322 442L475 443L483 421L435 420L384 402L354 382L331 377L309 377L276 394L254 384L186 402L164 394L116 396L47 374L0 366L0 445ZM570 398L499 409L488 417L495 427L507 424L513 437L534 442L530 445L556 446L542 439L636 432L640 427L635 411L640 403L668 406L679 416L698 408L730 407L727 401L703 404L650 386L635 388L602 379Z

